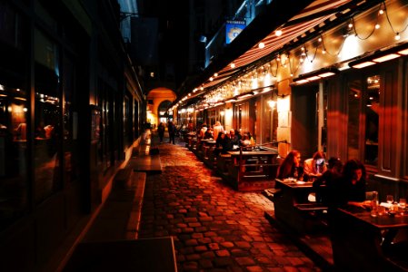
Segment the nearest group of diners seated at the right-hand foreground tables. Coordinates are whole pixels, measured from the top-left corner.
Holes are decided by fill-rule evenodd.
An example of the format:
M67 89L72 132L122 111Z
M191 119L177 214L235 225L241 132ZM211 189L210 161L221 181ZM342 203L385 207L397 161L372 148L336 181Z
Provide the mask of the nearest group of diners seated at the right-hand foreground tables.
M365 199L366 170L360 160L343 163L338 158L330 158L326 163L324 153L316 151L302 165L301 153L294 150L282 161L276 178L313 181L316 201L329 207L353 205L366 208L370 204Z

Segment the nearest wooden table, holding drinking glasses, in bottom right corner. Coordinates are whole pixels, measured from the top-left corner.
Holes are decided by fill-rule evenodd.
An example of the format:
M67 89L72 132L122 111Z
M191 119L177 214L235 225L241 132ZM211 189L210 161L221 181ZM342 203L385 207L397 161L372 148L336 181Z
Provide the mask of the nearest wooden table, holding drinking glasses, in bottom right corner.
M402 257L399 257L399 253L393 251L393 248L398 247L398 243L391 243L398 231L408 229L408 214L372 217L367 210L348 206L330 210L329 215L333 259L336 267L344 271L408 269L407 247L400 252ZM405 267L401 268L401 266Z

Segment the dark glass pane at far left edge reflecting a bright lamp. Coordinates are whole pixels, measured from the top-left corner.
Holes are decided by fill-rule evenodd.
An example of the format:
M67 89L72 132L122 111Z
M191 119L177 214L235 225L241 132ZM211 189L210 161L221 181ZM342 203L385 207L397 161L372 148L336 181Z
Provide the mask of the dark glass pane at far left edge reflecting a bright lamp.
M27 112L26 92L0 85L0 229L28 205Z

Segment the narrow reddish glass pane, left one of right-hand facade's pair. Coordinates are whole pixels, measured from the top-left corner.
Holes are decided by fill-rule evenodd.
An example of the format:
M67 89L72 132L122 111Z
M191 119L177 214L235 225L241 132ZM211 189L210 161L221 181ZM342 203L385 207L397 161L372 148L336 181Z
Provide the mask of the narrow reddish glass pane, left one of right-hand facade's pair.
M348 159L359 159L359 131L360 131L360 109L362 100L362 83L354 80L348 84L348 125L347 125L347 156Z

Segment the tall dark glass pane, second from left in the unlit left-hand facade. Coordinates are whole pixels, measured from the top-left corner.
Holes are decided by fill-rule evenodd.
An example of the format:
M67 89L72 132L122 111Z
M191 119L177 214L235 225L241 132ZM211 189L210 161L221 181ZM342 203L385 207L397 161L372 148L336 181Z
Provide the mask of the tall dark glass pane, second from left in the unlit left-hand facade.
M35 202L61 189L59 142L61 107L58 96L58 50L54 43L35 31Z

